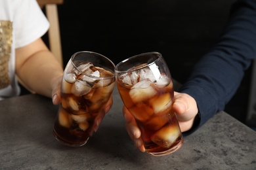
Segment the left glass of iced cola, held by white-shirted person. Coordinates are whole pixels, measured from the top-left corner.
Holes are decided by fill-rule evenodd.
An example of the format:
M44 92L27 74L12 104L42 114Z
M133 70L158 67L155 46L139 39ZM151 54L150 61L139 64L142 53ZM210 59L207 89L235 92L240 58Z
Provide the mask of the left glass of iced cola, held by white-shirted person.
M114 63L95 52L77 52L66 65L54 137L68 146L82 146L93 135L96 120L115 86Z

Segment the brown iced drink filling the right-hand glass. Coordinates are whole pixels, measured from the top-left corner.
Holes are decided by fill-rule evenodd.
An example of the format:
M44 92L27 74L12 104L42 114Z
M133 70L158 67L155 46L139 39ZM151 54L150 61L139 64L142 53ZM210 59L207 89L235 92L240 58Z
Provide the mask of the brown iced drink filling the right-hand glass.
M176 115L171 110L173 100L172 82L163 88L153 83L150 88L133 93L132 86L117 80L117 88L123 103L135 117L141 131L146 152L163 155L174 152L182 145L182 134ZM150 95L145 93L151 93Z

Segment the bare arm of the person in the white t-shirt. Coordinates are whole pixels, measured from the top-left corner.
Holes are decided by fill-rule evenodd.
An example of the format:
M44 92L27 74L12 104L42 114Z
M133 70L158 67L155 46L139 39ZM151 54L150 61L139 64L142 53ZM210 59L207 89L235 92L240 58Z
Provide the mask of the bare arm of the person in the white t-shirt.
M60 99L60 80L63 74L60 63L41 39L16 48L16 75L36 93ZM59 101L56 101L59 103Z

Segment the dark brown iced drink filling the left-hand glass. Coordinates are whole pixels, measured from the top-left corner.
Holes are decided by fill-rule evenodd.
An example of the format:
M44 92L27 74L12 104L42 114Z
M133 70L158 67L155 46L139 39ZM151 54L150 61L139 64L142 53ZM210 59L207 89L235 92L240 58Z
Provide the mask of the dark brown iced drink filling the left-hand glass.
M108 71L105 73L104 69L98 70L100 74L110 74ZM77 76L76 79L79 80L80 77L81 75ZM62 103L58 109L53 131L60 143L68 146L82 146L87 142L93 134L95 118L104 116L102 108L112 94L114 81L112 78L112 80L108 80L108 84L102 86L98 82L93 82L93 85L92 83L79 84L79 88L85 90L77 92L74 90L75 82L70 83L62 78ZM86 86L90 87L87 88ZM85 92L87 89L89 92Z

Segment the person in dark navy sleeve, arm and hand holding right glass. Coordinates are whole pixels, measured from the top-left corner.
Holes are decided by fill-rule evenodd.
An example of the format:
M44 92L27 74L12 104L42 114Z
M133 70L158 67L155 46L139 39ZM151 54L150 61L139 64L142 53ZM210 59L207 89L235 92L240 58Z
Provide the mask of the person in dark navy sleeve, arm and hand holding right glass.
M219 41L198 63L179 92L173 109L184 134L202 126L224 106L240 86L245 70L256 58L256 0L238 0ZM123 107L126 129L144 152L134 118Z

